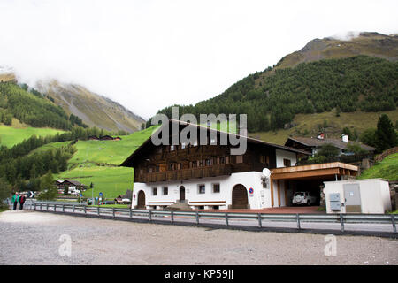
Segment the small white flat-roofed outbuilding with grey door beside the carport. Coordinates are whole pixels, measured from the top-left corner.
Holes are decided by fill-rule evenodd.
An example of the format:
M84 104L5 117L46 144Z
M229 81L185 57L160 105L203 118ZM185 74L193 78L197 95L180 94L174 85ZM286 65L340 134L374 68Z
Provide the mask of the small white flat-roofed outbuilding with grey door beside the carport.
M386 213L391 210L388 180L324 182L327 213Z

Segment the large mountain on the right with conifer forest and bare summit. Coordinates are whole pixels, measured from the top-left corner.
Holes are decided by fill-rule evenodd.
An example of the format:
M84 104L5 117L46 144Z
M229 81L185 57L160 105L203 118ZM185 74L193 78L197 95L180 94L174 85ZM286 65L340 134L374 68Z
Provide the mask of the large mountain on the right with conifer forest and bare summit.
M362 33L351 40L316 39L218 96L175 106L196 117L247 114L251 133L291 127L297 114L396 111L398 37ZM171 107L158 112L170 115Z

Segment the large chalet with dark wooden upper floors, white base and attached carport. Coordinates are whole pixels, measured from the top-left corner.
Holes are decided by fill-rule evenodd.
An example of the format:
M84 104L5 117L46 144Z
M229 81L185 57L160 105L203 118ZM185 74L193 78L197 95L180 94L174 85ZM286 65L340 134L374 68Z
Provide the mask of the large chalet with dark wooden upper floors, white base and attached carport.
M189 125L170 120L172 123L178 124L180 131ZM155 146L149 138L121 164L134 167L133 208L161 209L173 203L219 210L287 206L295 190L301 189L300 186L308 188L305 184L308 180L313 182L311 178L317 180L313 187L319 195L318 183L356 171L352 166L342 172L340 163L318 164L310 169L295 166L300 157L307 157L309 153L240 135L235 137L247 139L247 150L242 155L231 155L233 147L217 142L210 144L210 133L216 134L220 141L224 132L195 127L197 131L207 131L207 144ZM157 133L159 131L161 129ZM269 178L264 176L264 168L272 172Z

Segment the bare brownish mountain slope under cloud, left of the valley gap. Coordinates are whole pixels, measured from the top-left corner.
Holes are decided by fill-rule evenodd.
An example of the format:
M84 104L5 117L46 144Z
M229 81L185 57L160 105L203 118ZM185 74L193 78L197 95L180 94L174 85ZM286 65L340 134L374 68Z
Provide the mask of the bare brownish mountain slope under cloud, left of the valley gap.
M123 130L131 133L141 129L142 123L145 122L119 103L79 85L50 80L38 82L36 88L52 97L66 113L79 117L88 126L97 126L107 131Z

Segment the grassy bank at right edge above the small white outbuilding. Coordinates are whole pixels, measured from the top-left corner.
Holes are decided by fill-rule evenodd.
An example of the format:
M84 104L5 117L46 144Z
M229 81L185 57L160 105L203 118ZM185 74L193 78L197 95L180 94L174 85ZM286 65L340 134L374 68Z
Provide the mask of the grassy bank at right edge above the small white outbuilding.
M398 153L384 158L380 163L362 172L358 179L383 178L398 180Z

